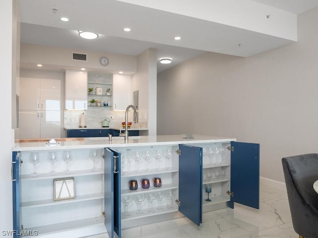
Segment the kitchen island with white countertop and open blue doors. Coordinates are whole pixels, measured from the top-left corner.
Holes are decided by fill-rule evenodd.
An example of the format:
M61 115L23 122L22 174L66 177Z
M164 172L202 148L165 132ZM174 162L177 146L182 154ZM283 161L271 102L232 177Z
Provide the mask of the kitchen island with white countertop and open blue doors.
M258 144L184 136L131 136L127 143L123 137L19 143L12 156L14 229L36 230L39 237L121 237L121 229L181 216L199 226L202 212L233 207L236 197L257 208ZM54 164L52 153L58 158ZM35 165L34 156L39 160ZM61 179L72 185L63 190L56 184ZM56 199L57 193L66 193L67 199Z

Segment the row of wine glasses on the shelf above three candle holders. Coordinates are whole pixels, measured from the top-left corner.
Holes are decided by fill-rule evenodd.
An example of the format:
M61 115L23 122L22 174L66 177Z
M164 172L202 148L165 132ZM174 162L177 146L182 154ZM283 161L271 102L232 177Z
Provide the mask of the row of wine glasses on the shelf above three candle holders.
M122 173L150 171L150 170L169 170L172 168L171 149L146 149L143 151L133 151L127 149L121 153ZM162 163L162 160L165 163ZM149 164L152 160L156 161L156 167L150 169ZM135 163L132 163L135 162ZM143 163L141 163L143 162Z

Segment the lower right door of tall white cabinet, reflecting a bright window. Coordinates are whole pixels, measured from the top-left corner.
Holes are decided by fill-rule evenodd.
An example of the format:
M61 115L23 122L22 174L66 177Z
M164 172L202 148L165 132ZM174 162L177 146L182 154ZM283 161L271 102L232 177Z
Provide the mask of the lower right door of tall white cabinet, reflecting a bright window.
M61 137L61 111L41 111L41 138Z

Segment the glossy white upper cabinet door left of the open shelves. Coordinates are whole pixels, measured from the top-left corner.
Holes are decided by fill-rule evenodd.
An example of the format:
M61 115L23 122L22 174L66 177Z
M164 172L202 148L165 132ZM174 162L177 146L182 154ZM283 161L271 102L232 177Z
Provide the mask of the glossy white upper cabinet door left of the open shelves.
M66 110L87 110L87 72L66 70Z

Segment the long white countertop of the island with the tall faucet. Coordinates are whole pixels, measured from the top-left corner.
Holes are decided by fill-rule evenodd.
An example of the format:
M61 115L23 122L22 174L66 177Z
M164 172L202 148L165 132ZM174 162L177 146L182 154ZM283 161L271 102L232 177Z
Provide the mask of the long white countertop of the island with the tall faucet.
M116 148L133 146L160 146L195 143L219 143L236 141L235 138L193 135L192 139L184 139L185 135L148 135L130 136L126 143L124 137L113 137L112 141L108 137L86 137L81 140L60 141L58 145L47 145L46 142L20 142L12 151L34 151L34 150L72 150L89 148Z

